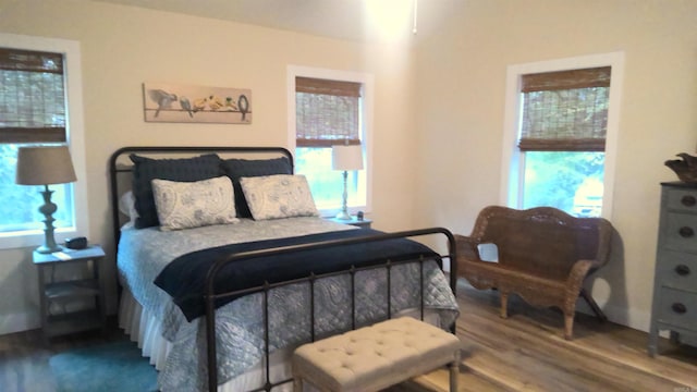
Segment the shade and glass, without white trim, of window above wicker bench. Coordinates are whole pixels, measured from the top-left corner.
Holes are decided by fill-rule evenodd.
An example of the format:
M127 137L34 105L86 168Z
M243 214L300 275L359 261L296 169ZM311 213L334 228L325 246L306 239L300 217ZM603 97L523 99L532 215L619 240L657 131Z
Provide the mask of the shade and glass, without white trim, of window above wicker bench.
M611 68L521 75L522 208L602 211Z

